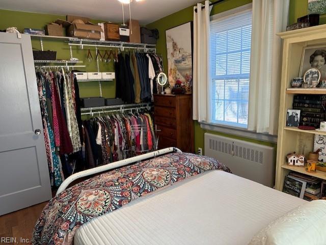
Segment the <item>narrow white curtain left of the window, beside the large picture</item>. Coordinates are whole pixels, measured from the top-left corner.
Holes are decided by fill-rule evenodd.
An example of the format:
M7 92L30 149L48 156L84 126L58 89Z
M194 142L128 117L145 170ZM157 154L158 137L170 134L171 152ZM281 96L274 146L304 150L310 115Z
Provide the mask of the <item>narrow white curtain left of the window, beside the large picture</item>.
M197 4L194 7L193 119L205 122L211 121L209 79L211 7L209 4L209 1L205 1L204 5Z

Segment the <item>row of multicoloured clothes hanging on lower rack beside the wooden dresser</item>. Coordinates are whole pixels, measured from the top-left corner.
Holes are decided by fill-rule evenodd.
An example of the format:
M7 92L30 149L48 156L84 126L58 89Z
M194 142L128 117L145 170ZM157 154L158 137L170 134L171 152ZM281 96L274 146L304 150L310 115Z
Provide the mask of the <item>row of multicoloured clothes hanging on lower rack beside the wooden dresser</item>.
M93 123L95 131L90 126ZM153 129L153 117L149 112L113 114L83 121L88 167L95 167L100 156L102 163L108 164L154 150ZM94 154L94 145L100 149L98 156Z

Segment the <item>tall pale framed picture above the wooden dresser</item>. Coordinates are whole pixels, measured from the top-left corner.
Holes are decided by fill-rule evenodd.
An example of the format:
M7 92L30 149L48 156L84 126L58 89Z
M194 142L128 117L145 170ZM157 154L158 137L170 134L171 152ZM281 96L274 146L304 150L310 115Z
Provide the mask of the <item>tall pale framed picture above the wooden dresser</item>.
M193 82L193 22L166 31L169 84L177 80L191 87Z

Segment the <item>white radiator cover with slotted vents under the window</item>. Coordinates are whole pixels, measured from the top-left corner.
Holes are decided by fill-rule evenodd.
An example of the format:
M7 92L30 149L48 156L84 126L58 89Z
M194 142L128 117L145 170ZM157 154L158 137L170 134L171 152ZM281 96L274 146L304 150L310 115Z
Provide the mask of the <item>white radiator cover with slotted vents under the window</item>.
M205 133L205 155L218 159L233 174L273 187L274 147Z

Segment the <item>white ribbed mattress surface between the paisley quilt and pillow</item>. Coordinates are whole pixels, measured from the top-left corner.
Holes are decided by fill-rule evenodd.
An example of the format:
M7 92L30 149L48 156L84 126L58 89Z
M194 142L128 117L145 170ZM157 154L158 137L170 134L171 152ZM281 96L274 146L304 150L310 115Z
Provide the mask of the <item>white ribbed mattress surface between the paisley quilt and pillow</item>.
M80 227L75 245L244 245L306 201L224 171L140 198Z

